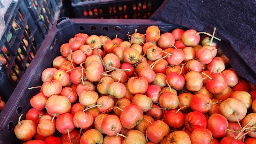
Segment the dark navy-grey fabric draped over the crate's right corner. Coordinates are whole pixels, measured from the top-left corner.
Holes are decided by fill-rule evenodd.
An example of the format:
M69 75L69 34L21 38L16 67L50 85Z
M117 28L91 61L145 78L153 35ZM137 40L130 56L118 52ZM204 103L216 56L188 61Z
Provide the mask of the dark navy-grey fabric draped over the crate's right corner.
M150 19L220 38L221 51L239 76L256 85L256 1L165 0Z

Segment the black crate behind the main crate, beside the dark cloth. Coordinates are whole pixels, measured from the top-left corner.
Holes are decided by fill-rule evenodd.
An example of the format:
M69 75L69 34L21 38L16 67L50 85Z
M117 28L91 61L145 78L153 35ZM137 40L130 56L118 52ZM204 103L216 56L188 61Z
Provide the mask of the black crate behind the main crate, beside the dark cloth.
M76 18L149 19L160 0L72 0Z

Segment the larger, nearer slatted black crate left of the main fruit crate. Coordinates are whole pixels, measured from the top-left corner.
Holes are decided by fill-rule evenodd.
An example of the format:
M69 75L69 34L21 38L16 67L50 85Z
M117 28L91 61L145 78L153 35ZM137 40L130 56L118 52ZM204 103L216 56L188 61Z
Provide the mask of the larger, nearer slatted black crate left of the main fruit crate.
M0 40L0 53L1 57L4 58L2 70L13 87L16 87L28 67L27 63L31 62L43 39L37 31L24 1L19 0L16 7L13 8L14 11L10 10L5 14L6 26ZM19 72L16 72L15 69L18 68ZM5 85L3 83L0 86Z

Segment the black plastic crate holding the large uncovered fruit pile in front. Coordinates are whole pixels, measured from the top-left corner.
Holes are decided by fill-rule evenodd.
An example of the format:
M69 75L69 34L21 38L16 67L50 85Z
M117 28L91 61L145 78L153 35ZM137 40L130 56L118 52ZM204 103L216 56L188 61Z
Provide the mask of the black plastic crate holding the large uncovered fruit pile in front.
M166 24L153 20L98 20L98 19L68 19L61 18L44 39L41 48L38 50L34 60L31 62L20 83L15 88L12 96L0 113L0 143L17 144L20 141L16 138L13 129L21 120L25 119L25 114L31 107L30 99L40 92L39 88L28 90L29 87L41 86L43 84L41 74L45 68L52 67L52 61L60 56L61 44L68 43L69 39L76 33L86 33L88 35L106 35L111 39L116 34L124 41L127 39L127 32L145 33L150 25L157 25L162 32L170 32L175 28L180 28L172 24ZM106 30L106 27L108 30Z

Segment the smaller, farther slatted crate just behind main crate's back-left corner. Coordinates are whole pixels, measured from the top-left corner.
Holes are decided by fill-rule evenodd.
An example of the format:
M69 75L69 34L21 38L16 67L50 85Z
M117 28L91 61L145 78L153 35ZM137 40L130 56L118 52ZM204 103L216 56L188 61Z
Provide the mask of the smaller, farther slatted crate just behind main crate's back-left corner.
M45 38L59 19L62 0L24 0L41 36Z

